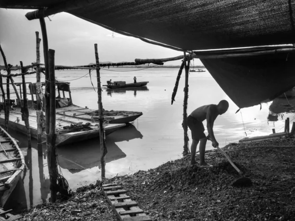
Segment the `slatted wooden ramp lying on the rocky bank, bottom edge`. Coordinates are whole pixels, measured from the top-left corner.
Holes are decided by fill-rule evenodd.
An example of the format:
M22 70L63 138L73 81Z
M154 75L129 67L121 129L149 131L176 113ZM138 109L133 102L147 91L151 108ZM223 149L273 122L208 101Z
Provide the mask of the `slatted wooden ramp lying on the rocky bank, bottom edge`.
M102 185L103 193L112 206L120 221L152 221L145 212L137 206L127 191L115 183Z

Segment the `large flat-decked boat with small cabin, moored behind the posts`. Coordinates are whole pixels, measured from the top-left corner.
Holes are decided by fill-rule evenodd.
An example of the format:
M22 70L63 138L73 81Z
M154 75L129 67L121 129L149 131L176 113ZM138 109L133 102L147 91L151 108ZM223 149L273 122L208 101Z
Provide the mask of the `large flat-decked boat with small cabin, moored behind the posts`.
M36 94L36 88L34 83L28 83L29 84L29 90L31 95L31 100L28 100L28 106L29 106L29 126L30 126L30 133L32 138L37 138L37 115L36 111L34 110L36 108L36 102L34 100L33 94ZM20 91L22 84L15 83L15 85L20 86ZM69 144L73 142L83 141L91 138L97 138L99 137L99 127L98 122L95 120L95 116L93 119L91 119L91 114L84 113L85 115L89 115L90 117L85 117L82 119L81 117L77 118L75 115L78 115L77 113L81 114L82 110L88 110L88 108L81 108L76 105L72 104L72 98L71 98L71 92L69 88L69 83L67 82L56 82L57 90L58 90L58 97L56 98L56 106L57 106L57 116L56 116L56 145L64 145ZM60 96L60 90L62 91L63 98ZM69 93L69 98L65 97L65 91ZM20 95L22 95L20 93ZM21 103L23 102L23 99L21 98L21 101L18 99L11 100L11 105L13 106L12 110L10 110L9 113L9 128L18 131L20 133L26 134L26 125L25 122L22 121L22 112L21 112ZM61 114L62 113L62 114ZM142 113L132 113L125 114L121 116L117 116L115 119L115 116L113 116L112 119L108 119L106 117L103 125L104 125L104 131L105 135L109 135L113 133L114 131L122 128L125 126L125 123L116 123L117 122L128 122L128 120L133 120L134 117L139 117ZM112 120L112 123L110 121ZM4 125L4 114L0 114L0 124ZM45 125L45 124L44 124ZM43 132L42 139L45 140L46 136Z

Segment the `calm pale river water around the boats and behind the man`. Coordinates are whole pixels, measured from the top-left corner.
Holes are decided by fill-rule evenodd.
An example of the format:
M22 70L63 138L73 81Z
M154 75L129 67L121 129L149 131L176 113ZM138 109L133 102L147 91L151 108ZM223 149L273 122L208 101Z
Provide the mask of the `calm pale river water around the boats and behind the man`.
M132 72L127 72L128 70L132 70ZM56 77L71 83L74 104L97 109L97 93L91 85L89 75L78 79L87 73L87 70L57 71ZM107 91L106 88L103 88L104 109L143 112L143 115L133 125L107 136L107 177L154 168L181 157L183 151L181 123L184 73L179 82L176 101L171 105L171 95L177 73L178 69L169 68L101 70L102 84L106 84L106 81L110 79L132 83L134 76L137 77L138 82L149 82L147 88L143 88L143 90L138 88ZM91 74L92 82L96 85L95 71L92 71ZM20 78L15 80L15 82L20 81ZM35 82L35 76L27 77L26 81ZM279 114L277 118L275 117L277 121L268 121L267 116L271 102L263 103L262 110L260 110L260 106L255 106L235 113L238 107L208 72L196 72L189 75L188 114L199 106L217 104L222 99L228 100L230 107L225 114L218 116L214 123L214 134L220 146L229 142L237 142L246 135L247 137L269 135L273 128L276 132L283 132L286 117L290 117L290 120L295 117L294 113L283 113ZM20 141L29 166L24 179L25 189L22 190L26 193L26 199L23 199L22 202L18 200L17 205L18 207L29 207L29 205L41 203L50 196L46 147L43 147L43 158L38 159L35 148L29 152L25 148L27 146L26 137L12 131L9 133ZM189 137L191 138L190 132ZM33 140L33 146L36 146L36 140ZM207 142L207 148L212 148L211 143ZM72 190L82 185L94 183L100 177L99 140L93 139L88 142L59 147L58 154L60 171Z

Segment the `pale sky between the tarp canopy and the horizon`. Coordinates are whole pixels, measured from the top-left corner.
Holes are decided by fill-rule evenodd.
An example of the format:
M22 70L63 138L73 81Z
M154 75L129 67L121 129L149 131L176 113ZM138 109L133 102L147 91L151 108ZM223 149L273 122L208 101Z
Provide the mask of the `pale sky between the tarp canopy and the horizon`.
M32 10L0 8L0 44L6 60L12 65L29 65L36 61L36 35L42 39L39 20L29 21L25 14ZM49 20L51 19L51 21ZM55 50L56 65L87 65L95 63L94 44L100 62L133 62L135 58L166 58L181 52L127 37L71 14L62 12L45 18L49 49ZM42 40L40 46L43 62ZM3 65L0 56L0 65ZM165 65L180 65L181 60ZM195 65L202 65L199 59Z

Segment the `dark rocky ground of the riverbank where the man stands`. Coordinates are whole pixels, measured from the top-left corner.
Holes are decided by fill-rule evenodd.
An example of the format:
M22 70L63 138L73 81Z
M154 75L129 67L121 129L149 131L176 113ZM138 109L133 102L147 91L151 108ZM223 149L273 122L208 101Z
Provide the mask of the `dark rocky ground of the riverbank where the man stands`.
M236 170L216 150L213 166L190 166L189 157L155 169L115 177L154 221L295 221L295 138L279 138L224 148L253 183L233 187ZM258 147L260 146L260 147ZM279 146L279 147L278 147ZM290 147L293 146L293 147ZM198 155L197 155L198 160ZM23 213L24 221L117 221L101 183L80 188L67 201L46 203Z

